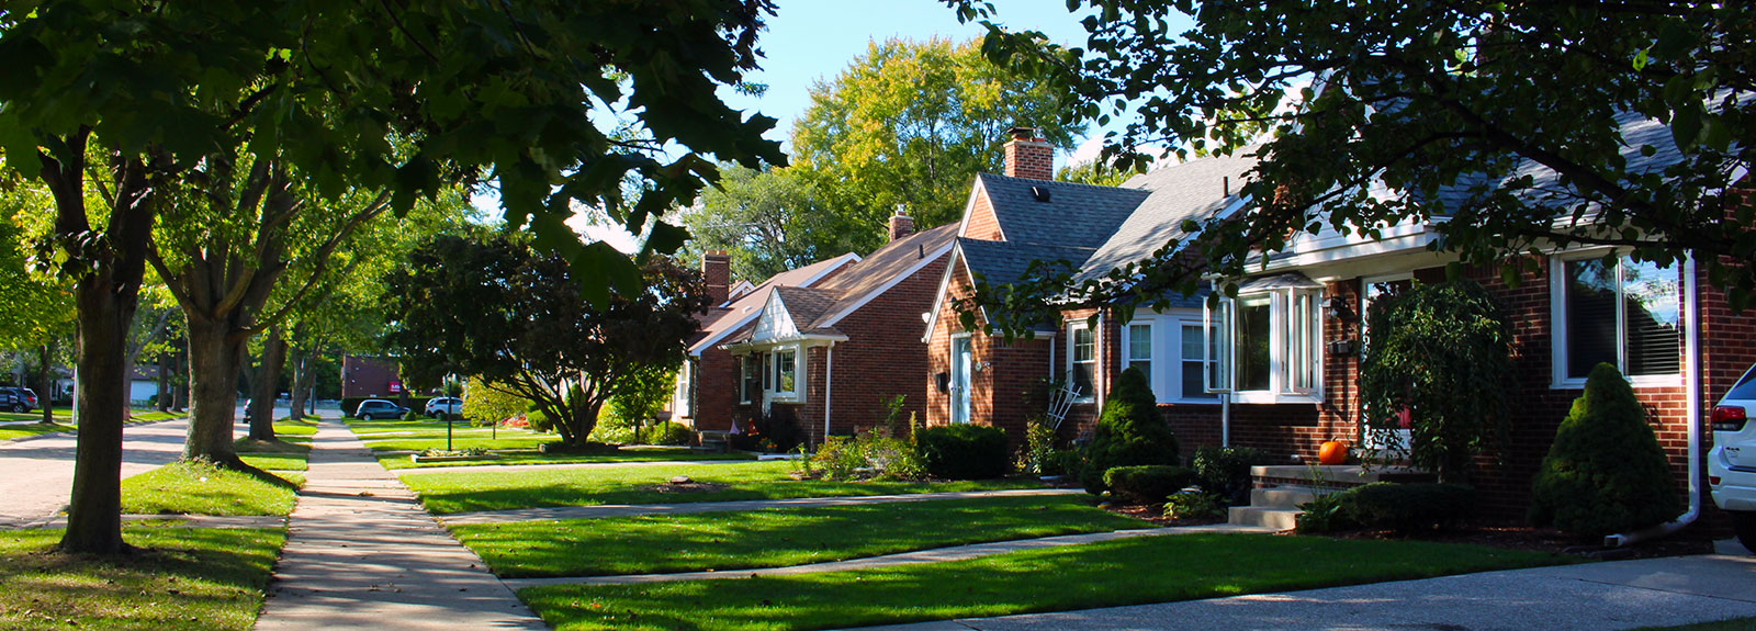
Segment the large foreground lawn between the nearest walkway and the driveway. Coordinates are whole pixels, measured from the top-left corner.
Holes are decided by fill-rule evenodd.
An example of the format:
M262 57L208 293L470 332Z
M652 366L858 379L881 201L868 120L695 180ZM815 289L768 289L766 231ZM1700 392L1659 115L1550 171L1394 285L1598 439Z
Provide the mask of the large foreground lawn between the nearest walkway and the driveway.
M825 629L1407 580L1570 562L1459 543L1173 534L773 578L529 587L562 631Z

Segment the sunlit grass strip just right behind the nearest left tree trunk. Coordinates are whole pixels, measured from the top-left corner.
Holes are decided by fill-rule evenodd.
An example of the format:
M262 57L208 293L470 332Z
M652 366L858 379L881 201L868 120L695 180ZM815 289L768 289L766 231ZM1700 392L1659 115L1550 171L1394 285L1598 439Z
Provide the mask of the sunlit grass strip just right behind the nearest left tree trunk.
M212 464L179 461L121 482L121 511L132 515L288 515L299 473L262 480Z

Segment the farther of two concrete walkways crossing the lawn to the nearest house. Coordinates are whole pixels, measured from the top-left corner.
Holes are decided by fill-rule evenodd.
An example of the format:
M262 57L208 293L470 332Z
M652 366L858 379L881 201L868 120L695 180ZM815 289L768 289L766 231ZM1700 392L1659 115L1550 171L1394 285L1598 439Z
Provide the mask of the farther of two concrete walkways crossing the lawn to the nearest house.
M702 501L678 504L601 504L601 506L555 506L555 508L513 508L486 510L478 513L441 515L450 526L507 524L560 519L602 519L634 515L688 515L722 513L764 508L818 508L818 506L855 506L889 504L904 501L934 499L976 499L976 497L1027 497L1027 496L1080 496L1080 489L1011 489L1011 490L959 490L959 492L918 492L899 496L852 496L852 497L788 497L788 499L741 499L741 501Z

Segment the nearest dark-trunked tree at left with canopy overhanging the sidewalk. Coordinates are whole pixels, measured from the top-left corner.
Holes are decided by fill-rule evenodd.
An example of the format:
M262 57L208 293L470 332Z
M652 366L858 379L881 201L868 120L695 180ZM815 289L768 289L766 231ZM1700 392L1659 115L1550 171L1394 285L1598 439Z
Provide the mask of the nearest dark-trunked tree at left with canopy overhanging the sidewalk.
M683 230L651 220L699 193L713 178L708 156L783 162L760 137L773 120L743 118L716 97L757 67L769 14L769 0L0 9L0 151L7 169L53 192L53 264L77 279L86 427L61 547L125 550L121 339L160 197L214 148L279 160L323 199L385 190L399 211L457 181L492 179L511 223L595 271L579 283L608 304L611 286L639 292L641 274L565 227L574 202L669 251ZM637 137L595 125L615 118L606 112L630 112ZM637 202L623 179L639 183ZM91 188L105 202L88 204Z

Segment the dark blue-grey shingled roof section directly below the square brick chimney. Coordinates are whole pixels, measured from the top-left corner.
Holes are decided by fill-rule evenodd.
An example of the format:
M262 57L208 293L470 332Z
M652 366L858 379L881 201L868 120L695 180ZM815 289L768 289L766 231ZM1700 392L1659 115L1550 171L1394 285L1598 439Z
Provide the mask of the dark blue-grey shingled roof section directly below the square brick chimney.
M1010 243L1098 248L1150 195L1145 190L978 174ZM1048 192L1040 202L1031 188Z

